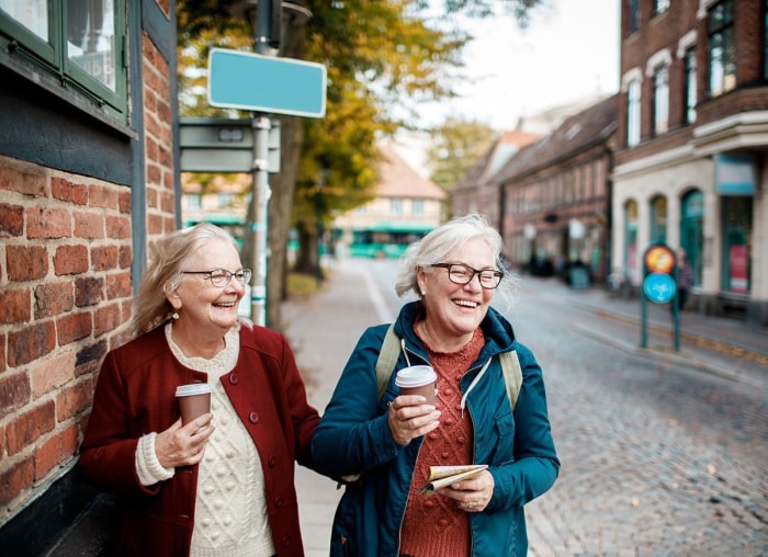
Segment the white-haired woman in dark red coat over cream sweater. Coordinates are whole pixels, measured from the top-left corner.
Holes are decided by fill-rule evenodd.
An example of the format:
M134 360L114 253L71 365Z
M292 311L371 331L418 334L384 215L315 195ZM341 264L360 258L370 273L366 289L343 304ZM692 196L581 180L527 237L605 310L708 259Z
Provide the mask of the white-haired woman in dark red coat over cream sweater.
M80 469L118 496L113 555L303 555L294 461L319 421L281 334L239 319L250 270L207 224L158 241L97 384ZM212 386L182 425L176 388Z

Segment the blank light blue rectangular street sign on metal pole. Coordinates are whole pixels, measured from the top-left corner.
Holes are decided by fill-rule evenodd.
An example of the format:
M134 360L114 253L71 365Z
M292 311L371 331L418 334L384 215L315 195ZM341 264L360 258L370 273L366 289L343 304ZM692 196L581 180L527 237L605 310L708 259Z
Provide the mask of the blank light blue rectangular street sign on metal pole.
M321 64L212 48L208 104L321 118L326 114L326 76Z

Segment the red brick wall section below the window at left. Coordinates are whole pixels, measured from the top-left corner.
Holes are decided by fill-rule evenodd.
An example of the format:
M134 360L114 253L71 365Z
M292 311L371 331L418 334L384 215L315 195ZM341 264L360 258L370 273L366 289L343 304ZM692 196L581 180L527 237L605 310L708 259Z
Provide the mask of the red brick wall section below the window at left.
M132 316L131 190L0 157L0 519L72 462Z

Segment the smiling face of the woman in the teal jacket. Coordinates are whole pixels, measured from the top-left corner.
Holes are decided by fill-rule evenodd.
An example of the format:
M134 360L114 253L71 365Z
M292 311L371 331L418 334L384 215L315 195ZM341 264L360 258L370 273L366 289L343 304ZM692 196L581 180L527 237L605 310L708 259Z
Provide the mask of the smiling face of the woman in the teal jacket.
M477 270L496 270L494 253L485 240L475 238L436 263L461 263ZM455 284L448 269L432 268L417 272L419 288L426 293L426 325L429 334L442 342L463 345L472 339L485 318L496 291L483 288L477 275L467 284Z

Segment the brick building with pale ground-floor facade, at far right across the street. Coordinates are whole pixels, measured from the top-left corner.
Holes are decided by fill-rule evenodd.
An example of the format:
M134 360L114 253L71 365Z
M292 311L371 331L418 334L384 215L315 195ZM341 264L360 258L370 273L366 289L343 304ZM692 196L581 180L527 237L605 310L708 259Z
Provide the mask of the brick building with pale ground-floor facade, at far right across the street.
M686 249L693 303L768 325L768 7L622 2L613 265Z

